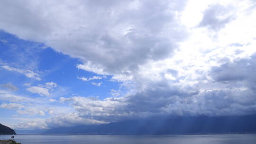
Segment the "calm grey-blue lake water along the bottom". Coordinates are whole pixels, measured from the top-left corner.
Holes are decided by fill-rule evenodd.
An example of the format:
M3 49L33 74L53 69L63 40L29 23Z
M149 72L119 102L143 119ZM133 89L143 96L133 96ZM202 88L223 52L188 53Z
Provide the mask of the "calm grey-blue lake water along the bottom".
M11 135L0 135L0 140ZM256 144L256 134L219 135L15 135L22 144Z

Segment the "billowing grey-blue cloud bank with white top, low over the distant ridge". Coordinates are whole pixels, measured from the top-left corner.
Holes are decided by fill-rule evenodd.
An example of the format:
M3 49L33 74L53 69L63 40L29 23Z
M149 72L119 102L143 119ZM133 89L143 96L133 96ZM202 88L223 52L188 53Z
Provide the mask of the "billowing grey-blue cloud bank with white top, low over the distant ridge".
M119 97L114 93L114 98L103 100L71 97L60 101L70 103L83 117L105 122L157 115L255 114L256 56L255 50L247 51L252 50L255 44L256 41L251 41L251 45L239 47L244 51L239 54L236 54L236 45L224 45L175 67L175 61L151 63L145 66L143 74L134 75L136 86L123 83L122 86L129 90L136 90L128 91L122 97L118 91ZM150 71L156 68L158 71Z

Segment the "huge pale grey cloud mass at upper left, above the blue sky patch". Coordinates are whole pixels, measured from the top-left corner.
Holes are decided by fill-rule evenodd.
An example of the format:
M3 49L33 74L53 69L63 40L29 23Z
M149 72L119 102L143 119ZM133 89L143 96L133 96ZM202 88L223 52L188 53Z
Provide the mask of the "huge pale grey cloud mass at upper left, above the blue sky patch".
M9 17L12 27L6 18L0 27L20 38L43 42L80 58L83 64L78 68L87 71L101 74L135 71L149 60L170 56L177 42L183 40L185 30L176 18L184 2L111 0L100 4L85 0L64 1L63 7L54 1L2 2L5 8L23 9L22 15L27 17L20 18L20 10L12 11L13 17ZM58 13L53 12L56 7ZM1 13L10 15L5 8L1 8Z

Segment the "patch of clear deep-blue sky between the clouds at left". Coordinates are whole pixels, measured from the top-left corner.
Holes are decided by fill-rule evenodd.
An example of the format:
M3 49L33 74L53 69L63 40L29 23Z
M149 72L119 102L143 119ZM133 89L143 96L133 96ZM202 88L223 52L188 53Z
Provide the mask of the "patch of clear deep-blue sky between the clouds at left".
M50 91L51 98L71 97L73 95L84 97L110 97L110 90L119 88L119 82L110 81L111 76L101 80L82 81L77 77L90 78L97 75L76 68L80 60L54 51L41 43L21 40L16 36L0 31L0 84L11 83L18 87L16 93L30 97L42 97L39 94L28 92L25 83L38 86L46 82L55 82L58 87ZM8 71L2 65L38 73L40 81L28 78L26 75ZM92 85L91 82L100 83L101 86ZM55 96L53 95L55 94Z

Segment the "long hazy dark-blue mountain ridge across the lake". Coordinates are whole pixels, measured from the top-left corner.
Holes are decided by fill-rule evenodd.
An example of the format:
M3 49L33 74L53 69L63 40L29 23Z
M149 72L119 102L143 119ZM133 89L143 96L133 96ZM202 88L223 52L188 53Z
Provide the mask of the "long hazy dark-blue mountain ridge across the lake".
M255 133L256 115L226 117L171 117L128 120L117 123L58 127L42 134L173 135L207 133Z

